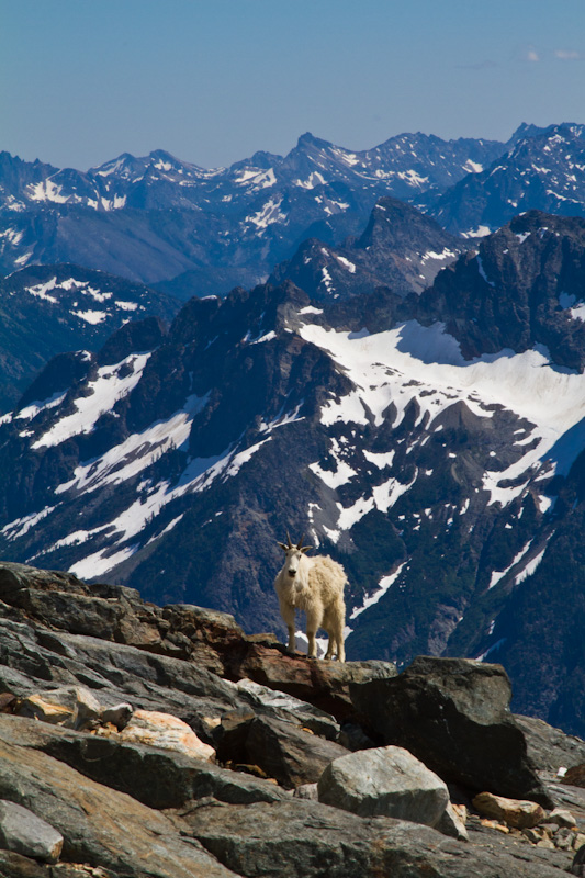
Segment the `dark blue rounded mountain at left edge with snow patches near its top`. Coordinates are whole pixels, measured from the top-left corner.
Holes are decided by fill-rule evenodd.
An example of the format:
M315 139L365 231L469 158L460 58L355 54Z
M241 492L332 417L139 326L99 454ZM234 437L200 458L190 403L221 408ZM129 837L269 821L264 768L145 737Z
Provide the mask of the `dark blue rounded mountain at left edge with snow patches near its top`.
M79 266L34 266L0 279L0 413L56 354L97 350L130 319L168 322L178 309L169 295Z

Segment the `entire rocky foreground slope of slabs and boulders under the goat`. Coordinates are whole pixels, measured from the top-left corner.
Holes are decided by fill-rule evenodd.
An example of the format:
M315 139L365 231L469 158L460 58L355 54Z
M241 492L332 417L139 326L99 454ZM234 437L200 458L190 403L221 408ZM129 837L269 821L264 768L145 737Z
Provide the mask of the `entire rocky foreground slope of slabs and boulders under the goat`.
M585 743L509 697L3 563L0 875L585 875Z

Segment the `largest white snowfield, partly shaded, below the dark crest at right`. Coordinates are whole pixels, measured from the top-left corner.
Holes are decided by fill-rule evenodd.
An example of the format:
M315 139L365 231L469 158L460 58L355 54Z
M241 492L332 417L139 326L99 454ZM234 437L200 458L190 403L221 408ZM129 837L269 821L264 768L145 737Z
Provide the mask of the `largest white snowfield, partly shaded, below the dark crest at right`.
M373 419L380 426L393 404L393 426L397 426L413 399L430 421L454 402L463 401L480 417L492 417L486 406L495 404L536 425L530 436L540 440L537 448L506 472L486 474L485 486L493 492L502 480L540 466L552 446L585 418L585 375L554 365L542 346L524 353L503 350L468 361L457 340L438 323L423 327L410 320L375 335L365 330L337 333L306 324L299 333L327 350L355 385L347 396L323 406L322 421L326 425L367 425ZM559 473L566 472L581 447L580 437L573 442L567 439L563 457L550 474L554 468ZM511 495L493 495L492 502L495 499L509 502Z

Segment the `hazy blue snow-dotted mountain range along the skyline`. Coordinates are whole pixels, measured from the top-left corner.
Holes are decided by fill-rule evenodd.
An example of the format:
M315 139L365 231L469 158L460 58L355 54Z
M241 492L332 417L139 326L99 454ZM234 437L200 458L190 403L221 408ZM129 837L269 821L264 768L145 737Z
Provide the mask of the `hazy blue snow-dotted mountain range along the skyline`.
M0 153L0 272L72 262L187 300L265 281L308 238L345 246L383 196L466 237L527 210L583 215L583 133L566 123L522 124L507 143L402 134L359 153L305 134L284 157L213 170L164 150L87 172Z

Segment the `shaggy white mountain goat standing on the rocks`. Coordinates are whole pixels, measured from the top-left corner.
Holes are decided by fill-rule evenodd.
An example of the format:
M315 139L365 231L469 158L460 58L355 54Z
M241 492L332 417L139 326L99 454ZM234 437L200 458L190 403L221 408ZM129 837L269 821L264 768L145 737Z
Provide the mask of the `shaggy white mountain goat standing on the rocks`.
M346 572L328 555L307 558L305 552L312 547L303 545L302 537L296 545L292 544L288 533L286 540L288 544L279 542L286 553L286 560L274 581L274 588L280 601L280 612L289 629L289 650L294 650L294 611L304 610L308 656L317 657L315 634L318 628L324 628L329 637L325 657L331 658L335 652L338 661L345 662Z

